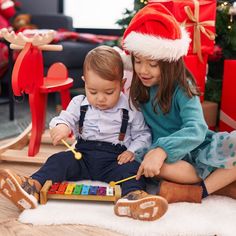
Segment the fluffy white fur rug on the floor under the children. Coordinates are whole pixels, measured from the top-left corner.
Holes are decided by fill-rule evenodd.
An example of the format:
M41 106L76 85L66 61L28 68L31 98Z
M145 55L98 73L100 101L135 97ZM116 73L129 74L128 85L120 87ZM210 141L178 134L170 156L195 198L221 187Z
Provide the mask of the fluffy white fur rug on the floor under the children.
M161 219L142 222L116 216L113 203L50 200L37 209L25 210L18 220L34 225L92 225L129 236L235 236L236 201L210 196L202 204L170 204Z

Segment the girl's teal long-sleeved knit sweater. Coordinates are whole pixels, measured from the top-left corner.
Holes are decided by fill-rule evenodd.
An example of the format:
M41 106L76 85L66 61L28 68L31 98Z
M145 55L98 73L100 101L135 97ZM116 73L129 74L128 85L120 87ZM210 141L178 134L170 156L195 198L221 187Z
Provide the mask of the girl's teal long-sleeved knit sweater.
M141 109L152 131L150 149L161 147L167 153L166 162L173 163L209 144L213 132L208 130L199 98L189 98L179 86L174 91L170 111L163 114L157 106L155 113L152 101L157 89L150 88L150 99Z

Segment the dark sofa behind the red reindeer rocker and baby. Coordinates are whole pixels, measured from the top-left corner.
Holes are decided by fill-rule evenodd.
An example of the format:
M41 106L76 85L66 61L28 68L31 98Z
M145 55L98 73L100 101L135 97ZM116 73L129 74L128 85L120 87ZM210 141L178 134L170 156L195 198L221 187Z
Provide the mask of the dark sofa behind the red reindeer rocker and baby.
M66 29L73 31L72 18L62 14L55 15L32 15L32 24L40 29ZM43 52L45 72L54 62L62 62L69 71L69 76L74 79L73 88L83 88L84 83L81 80L83 74L83 62L86 54L98 46L96 43L87 43L79 41L62 41L58 44L63 46L61 52Z

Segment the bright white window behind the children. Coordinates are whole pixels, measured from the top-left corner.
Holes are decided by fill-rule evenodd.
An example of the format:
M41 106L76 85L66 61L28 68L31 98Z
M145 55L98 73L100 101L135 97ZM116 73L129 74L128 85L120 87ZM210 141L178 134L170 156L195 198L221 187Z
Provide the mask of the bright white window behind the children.
M126 8L133 9L134 0L64 0L62 5L63 13L72 16L74 28L104 32L119 30L115 22L122 18Z

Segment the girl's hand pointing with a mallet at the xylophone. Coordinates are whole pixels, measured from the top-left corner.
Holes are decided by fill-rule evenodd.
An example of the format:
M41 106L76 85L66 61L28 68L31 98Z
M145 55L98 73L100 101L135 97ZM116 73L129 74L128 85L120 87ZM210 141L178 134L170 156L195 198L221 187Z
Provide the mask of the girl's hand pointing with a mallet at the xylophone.
M145 177L154 177L159 175L160 169L167 157L166 152L162 148L150 150L144 157L138 172L136 180L139 180L141 175Z

